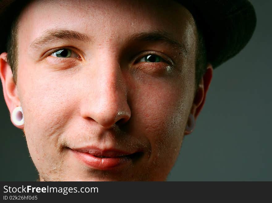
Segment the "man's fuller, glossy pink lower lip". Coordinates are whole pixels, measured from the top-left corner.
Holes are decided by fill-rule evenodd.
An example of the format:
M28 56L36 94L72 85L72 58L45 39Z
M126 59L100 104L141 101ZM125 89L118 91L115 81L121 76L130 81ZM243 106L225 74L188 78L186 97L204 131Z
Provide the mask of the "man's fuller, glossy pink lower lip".
M97 170L111 170L131 162L131 159L127 156L99 158L89 153L72 151L79 160L83 161L87 166Z

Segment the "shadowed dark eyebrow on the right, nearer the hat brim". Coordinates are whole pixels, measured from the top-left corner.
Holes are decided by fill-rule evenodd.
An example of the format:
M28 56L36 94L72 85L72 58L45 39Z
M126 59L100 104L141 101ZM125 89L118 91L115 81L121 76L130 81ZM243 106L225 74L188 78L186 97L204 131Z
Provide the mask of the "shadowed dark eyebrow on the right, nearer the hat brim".
M177 40L175 40L168 32L155 30L151 32L140 32L135 33L130 36L130 41L140 40L140 41L162 41L171 46L181 50L183 55L188 55L188 49L186 46Z

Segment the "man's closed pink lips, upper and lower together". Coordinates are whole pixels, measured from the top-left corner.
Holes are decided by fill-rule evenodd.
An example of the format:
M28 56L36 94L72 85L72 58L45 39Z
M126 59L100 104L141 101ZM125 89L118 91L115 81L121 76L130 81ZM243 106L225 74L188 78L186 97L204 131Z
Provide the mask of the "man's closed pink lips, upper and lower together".
M116 149L101 150L98 148L70 149L77 159L87 167L97 170L113 170L133 164L143 152L128 152Z

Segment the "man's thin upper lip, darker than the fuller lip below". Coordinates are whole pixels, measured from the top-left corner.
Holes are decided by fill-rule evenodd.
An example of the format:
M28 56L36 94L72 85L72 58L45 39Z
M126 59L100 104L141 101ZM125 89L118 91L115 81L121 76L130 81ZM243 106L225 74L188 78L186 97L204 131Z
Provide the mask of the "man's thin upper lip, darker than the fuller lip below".
M118 149L100 149L97 147L73 148L72 150L82 152L82 153L89 153L93 156L105 156L105 157L121 157L121 156L134 154L137 152L137 151L128 152L128 151L122 151Z

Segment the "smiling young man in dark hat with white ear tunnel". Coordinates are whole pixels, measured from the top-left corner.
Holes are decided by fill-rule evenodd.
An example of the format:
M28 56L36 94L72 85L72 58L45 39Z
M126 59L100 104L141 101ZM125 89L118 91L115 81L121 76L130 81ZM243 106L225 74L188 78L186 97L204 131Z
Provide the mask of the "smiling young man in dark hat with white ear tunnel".
M42 181L166 180L256 23L246 0L1 6L4 97Z

